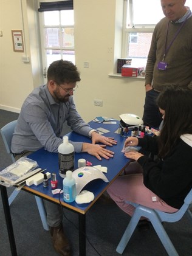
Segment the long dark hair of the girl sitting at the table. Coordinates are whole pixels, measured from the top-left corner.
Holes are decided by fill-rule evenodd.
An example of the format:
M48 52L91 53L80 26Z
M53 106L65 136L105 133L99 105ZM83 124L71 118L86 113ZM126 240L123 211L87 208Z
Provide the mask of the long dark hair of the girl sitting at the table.
M157 97L157 105L165 110L159 136L159 157L167 156L182 134L192 134L192 89L166 86Z

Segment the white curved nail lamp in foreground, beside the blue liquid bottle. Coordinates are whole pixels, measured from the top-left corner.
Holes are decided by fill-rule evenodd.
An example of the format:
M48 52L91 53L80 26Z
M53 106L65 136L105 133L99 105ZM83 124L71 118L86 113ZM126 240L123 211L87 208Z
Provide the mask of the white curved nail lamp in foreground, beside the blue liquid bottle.
M91 166L80 167L77 170L72 171L72 176L75 179L77 195L86 184L94 179L103 179L103 181L109 182L102 171Z

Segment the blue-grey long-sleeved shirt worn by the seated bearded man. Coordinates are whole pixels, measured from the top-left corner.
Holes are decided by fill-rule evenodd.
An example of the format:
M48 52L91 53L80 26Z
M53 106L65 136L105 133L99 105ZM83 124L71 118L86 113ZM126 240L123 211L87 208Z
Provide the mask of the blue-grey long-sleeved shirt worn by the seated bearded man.
M73 97L69 102L57 103L47 88L47 85L35 88L24 101L15 133L12 139L12 152L21 153L24 150L36 151L44 147L47 151L57 152L63 142L60 138L63 123L84 136L89 136L92 128L81 119ZM81 152L82 142L70 142L76 152Z

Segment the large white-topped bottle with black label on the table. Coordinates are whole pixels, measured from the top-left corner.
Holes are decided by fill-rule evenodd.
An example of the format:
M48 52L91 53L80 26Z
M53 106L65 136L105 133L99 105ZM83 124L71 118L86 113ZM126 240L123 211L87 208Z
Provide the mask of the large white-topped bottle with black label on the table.
M66 177L66 171L74 170L74 146L69 143L68 137L63 137L63 143L58 147L59 173L62 178Z

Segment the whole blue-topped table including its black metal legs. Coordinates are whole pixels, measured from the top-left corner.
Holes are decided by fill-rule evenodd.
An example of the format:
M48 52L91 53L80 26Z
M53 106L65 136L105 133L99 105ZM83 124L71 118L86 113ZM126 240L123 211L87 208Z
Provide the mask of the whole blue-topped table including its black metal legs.
M126 137L120 136L120 134L115 133L117 129L120 127L119 122L117 121L116 124L103 124L103 123L95 123L90 122L89 123L92 128L105 128L106 130L109 130L108 133L105 133L103 135L107 137L114 137L115 140L117 140L117 145L114 145L113 147L106 147L109 150L114 151L114 157L106 160L102 159L101 161L98 161L98 159L94 156L91 156L87 153L75 153L75 169L77 167L78 159L84 158L87 161L91 162L92 165L98 165L108 167L108 173L105 173L106 177L108 178L109 182L106 183L102 179L96 179L84 187L84 189L93 192L95 195L94 201L90 202L89 204L77 204L76 202L66 203L63 201L62 196L58 195L52 195L52 190L49 185L49 187L44 188L43 184L39 185L32 185L28 187L27 185L23 187L23 190L26 192L32 193L33 195L39 196L40 198L47 199L49 201L55 202L57 204L62 204L63 207L66 207L67 209L73 210L74 212L78 213L79 218L79 252L80 256L86 255L86 212L91 208L91 206L97 201L97 199L102 195L103 192L109 187L111 182L113 182L118 175L123 171L123 169L126 167L126 165L129 164L129 160L124 156L124 154L121 152L123 148L123 144L125 142ZM67 134L69 136L69 140L72 141L78 141L78 142L91 142L91 139L85 136L81 136L80 134L77 134L75 132ZM43 148L40 150L30 154L28 156L30 159L35 160L39 167L44 169L46 168L46 171L49 171L50 173L57 173L57 179L58 179L58 189L63 188L63 179L58 174L58 153L50 153ZM2 188L1 186L1 194L2 194L2 200L5 202L4 204L4 212L9 216L8 219L6 219L7 223L7 230L9 232L9 240L10 240L10 246L12 249L12 255L16 256L16 246L15 246L15 238L13 234L13 227L12 227L12 220L10 218L10 210L9 210L9 203L7 198L7 190L6 188ZM63 194L61 194L63 195Z

